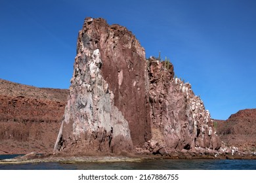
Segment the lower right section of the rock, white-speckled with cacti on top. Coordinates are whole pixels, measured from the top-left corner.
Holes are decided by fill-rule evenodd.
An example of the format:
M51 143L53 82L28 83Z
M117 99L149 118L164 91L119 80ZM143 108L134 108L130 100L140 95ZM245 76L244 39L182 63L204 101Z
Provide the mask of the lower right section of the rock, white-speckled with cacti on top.
M146 148L157 153L221 147L209 111L191 86L173 78L173 65L154 58L148 60L152 139ZM152 143L158 144L151 148ZM151 144L151 145L150 145ZM161 154L161 152L160 152Z

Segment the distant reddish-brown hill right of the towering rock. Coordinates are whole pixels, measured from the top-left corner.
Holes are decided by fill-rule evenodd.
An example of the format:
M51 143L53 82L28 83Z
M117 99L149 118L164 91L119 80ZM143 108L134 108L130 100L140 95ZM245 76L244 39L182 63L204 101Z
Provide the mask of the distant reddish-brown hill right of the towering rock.
M228 147L255 152L256 144L256 109L239 110L228 120L215 120L217 133Z

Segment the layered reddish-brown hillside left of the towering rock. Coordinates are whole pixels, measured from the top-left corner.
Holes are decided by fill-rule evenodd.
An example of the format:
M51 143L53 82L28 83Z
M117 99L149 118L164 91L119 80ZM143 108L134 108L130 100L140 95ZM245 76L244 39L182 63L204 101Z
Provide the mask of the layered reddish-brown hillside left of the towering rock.
M0 154L52 152L67 96L0 79Z

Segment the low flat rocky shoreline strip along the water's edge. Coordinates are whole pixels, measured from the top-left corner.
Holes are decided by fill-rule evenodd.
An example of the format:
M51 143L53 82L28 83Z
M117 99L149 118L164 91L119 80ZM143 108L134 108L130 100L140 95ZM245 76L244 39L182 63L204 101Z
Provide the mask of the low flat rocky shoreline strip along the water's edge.
M6 154L5 154L6 155ZM0 155L1 156L1 155ZM142 162L157 159L256 159L253 154L196 154L192 152L179 152L174 156L157 156L133 154L129 156L118 156L114 154L92 155L63 155L63 154L35 154L30 153L24 156L16 156L10 159L1 159L0 165L5 164L26 164L26 163L114 163L114 162Z

